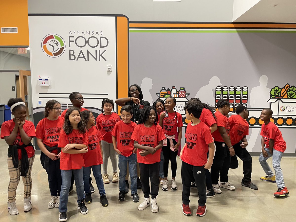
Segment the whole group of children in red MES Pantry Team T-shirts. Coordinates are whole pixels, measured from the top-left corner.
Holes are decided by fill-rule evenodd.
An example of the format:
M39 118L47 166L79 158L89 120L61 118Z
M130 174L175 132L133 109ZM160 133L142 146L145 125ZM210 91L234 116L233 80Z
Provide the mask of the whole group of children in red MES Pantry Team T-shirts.
M131 92L130 92L131 91ZM139 103L139 96L134 89L130 90L130 101ZM142 99L142 98L141 98ZM217 102L217 111L203 104L198 98L190 99L184 110L186 119L190 121L186 128L186 143L180 148L182 138L182 116L175 110L176 99L168 97L157 100L153 106L144 105L141 111L131 105L123 104L120 110L121 119L114 111L113 100L104 99L102 113L96 118L91 111L82 108L83 96L78 92L70 94L73 107L61 115L61 104L49 100L45 107L45 118L36 126L25 119L25 103L20 98L10 99L12 120L2 124L1 139L5 139L8 148L8 212L18 214L15 205L17 185L22 176L24 182L24 211L31 209L31 170L34 161L34 148L31 144L33 137L41 149L41 164L48 174L51 200L49 208L59 208L59 221L67 221L68 195L73 190L73 180L76 185L78 209L82 214L88 213L86 203L91 203L91 169L99 189L100 201L108 206L104 183L109 183L107 163L110 157L113 168L112 182L118 181L117 158L119 167L119 201L125 200L128 193L126 176L131 178L131 197L133 202L139 202L137 189L142 186L144 200L138 206L144 210L151 205L153 213L158 212L157 194L159 184L162 190L168 191L168 168L171 162L171 189L177 190L176 170L177 153L180 151L182 190L182 212L191 215L189 195L192 187L197 187L199 201L196 215L206 213L206 200L221 193L221 187L234 190L228 181L228 170L237 157L243 161L244 178L242 185L258 189L251 182L252 158L245 149L248 145L249 125L247 108L236 107L237 115L227 117L230 104L221 99ZM127 103L127 101L121 101ZM136 123L135 113L138 115ZM262 154L259 162L267 176L263 181L276 182L278 191L274 196L285 196L289 192L284 184L280 161L285 141L281 132L270 121L272 110L263 109L260 119L264 121L260 135L262 136ZM216 147L216 150L215 150ZM273 167L276 175L266 160L273 157ZM103 165L103 175L101 174ZM139 173L137 172L139 164ZM235 164L234 164L235 165ZM234 167L235 168L235 167ZM211 169L211 172L209 171ZM220 180L219 180L220 176ZM140 180L140 181L139 181ZM149 180L151 186L149 184ZM72 189L72 190L71 190ZM150 199L151 196L151 199Z

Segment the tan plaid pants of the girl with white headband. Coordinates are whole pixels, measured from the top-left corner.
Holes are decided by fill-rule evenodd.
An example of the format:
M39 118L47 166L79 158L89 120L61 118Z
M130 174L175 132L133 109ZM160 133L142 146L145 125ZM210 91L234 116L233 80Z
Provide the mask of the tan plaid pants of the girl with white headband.
M22 181L24 183L24 197L30 197L31 191L32 191L32 165L34 162L35 156L29 158L29 170L26 177L22 176ZM12 157L7 158L7 165L8 165L8 171L9 171L9 184L7 189L7 195L8 195L8 201L14 202L15 201L15 194L17 191L17 185L20 182L20 166L21 166L21 160L19 160L19 165L17 168L14 167L12 163Z

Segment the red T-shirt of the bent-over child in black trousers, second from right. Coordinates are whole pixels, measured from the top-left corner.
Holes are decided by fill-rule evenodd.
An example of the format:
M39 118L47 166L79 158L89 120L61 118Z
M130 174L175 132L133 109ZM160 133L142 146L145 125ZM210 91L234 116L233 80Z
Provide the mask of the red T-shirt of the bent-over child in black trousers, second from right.
M231 145L239 143L244 137L249 135L249 123L240 115L231 115L230 118L230 141Z

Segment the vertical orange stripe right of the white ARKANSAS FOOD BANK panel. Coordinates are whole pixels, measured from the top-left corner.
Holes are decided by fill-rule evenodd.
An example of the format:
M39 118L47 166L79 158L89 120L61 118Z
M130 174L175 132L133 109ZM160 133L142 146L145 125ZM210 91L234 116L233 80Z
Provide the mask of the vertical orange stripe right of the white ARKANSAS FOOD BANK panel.
M128 20L117 17L117 83L118 98L127 97L128 91ZM118 115L121 107L118 106Z

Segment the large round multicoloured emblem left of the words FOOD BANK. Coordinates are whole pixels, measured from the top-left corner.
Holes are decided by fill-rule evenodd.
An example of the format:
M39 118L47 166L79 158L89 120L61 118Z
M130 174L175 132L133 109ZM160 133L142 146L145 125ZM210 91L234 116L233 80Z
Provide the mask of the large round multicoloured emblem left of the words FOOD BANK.
M57 34L49 34L43 38L41 47L47 56L55 58L65 52L65 41Z

